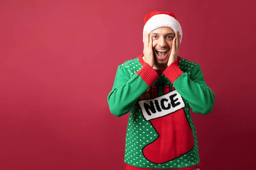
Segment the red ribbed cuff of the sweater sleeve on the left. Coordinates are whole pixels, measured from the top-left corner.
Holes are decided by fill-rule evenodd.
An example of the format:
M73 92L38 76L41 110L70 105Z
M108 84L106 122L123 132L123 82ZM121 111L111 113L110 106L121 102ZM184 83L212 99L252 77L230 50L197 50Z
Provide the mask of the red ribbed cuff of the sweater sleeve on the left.
M148 86L151 86L159 77L154 68L152 68L148 63L143 63L143 68L137 72L137 74L147 83Z

